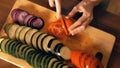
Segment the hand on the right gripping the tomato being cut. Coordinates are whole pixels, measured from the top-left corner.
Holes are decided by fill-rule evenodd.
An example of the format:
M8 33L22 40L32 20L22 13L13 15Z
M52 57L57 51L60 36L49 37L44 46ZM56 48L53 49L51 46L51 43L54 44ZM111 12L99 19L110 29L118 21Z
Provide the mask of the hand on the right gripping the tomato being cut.
M83 13L82 16L69 27L68 30L72 35L85 30L86 26L93 19L93 8L92 3L83 0L68 14L66 18L72 18L77 12Z

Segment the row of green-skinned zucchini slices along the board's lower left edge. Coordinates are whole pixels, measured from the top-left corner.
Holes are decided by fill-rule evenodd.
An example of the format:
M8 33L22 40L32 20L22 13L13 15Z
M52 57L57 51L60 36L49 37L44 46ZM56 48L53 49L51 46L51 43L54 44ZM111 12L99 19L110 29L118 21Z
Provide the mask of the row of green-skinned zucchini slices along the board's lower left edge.
M55 55L37 51L31 46L15 40L3 39L0 48L5 53L25 59L34 68L72 68L58 60Z

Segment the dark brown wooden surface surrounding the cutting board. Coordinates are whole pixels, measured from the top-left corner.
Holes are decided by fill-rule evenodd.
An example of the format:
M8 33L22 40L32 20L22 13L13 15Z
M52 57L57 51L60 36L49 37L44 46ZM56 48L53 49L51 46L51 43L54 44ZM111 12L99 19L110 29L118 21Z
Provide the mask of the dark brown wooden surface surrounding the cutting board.
M46 6L49 8L46 0L30 0L34 3ZM0 2L0 29L2 25L4 24L15 0L1 0ZM74 1L77 3L77 1ZM71 6L68 6L71 5ZM63 6L63 14L67 14L73 7L73 3L68 3ZM50 8L55 10L54 8ZM94 20L90 24L94 27L97 27L99 29L102 29L106 32L109 32L116 36L115 45L108 63L107 68L120 68L120 16L114 15L112 13L106 12L104 10L96 10L94 11ZM3 68L2 65L5 66L4 68L12 68L13 65L8 64L7 62L3 62L3 60L0 60L0 68ZM10 66L11 67L10 67ZM9 66L9 67L8 67Z

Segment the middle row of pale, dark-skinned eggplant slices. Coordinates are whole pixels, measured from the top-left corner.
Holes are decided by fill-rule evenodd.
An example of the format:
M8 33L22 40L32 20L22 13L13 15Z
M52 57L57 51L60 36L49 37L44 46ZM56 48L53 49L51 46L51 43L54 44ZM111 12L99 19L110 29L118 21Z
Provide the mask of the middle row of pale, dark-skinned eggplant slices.
M37 29L17 24L7 24L5 32L10 39L21 41L24 44L34 47L47 53L56 54L57 56L69 60L71 50L64 46L59 40Z

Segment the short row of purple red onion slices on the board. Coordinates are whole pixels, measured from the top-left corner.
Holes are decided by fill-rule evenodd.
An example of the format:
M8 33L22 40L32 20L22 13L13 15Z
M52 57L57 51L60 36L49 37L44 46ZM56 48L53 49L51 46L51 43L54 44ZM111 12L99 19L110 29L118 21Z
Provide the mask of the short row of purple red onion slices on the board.
M19 25L29 26L35 29L41 29L44 26L44 20L28 13L25 10L16 8L11 12L11 17Z

